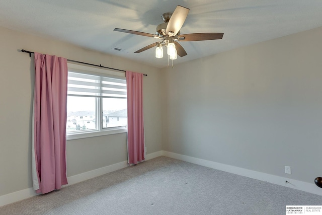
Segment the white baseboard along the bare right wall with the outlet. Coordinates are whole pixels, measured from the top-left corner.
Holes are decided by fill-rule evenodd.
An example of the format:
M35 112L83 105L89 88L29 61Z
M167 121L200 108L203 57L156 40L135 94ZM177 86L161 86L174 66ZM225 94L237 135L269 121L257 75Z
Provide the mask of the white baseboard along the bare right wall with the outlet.
M186 155L180 155L180 154L167 152L167 151L163 151L162 155L169 158L174 158L174 159L190 162L193 164L209 167L212 169L233 173L236 175L246 176L246 177L258 179L261 181L266 181L272 184L278 184L285 187L294 188L297 190L302 190L302 191L317 194L317 195L322 195L322 189L317 187L314 183L307 183L307 182L298 181L298 180L294 180L286 177L284 178L276 175L257 172L253 170L248 170L240 167L230 166L230 165L203 160L199 158L194 158ZM288 181L289 183L285 183L285 181Z

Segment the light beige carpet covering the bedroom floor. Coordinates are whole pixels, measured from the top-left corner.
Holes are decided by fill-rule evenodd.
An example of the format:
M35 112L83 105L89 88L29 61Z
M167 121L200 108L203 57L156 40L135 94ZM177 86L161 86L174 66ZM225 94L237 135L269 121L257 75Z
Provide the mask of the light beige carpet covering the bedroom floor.
M158 157L59 191L0 207L0 214L285 214L322 196Z

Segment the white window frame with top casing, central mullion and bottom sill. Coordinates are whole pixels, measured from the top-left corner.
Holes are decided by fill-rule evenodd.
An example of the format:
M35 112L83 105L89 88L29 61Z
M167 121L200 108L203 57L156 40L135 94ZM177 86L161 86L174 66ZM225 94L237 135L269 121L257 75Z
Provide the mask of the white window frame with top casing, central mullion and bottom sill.
M108 78L120 78L125 80L125 73L121 73L118 71L112 71L108 69L95 68L86 65L79 65L74 63L67 63L68 71L75 73L83 73L87 75L96 75L96 76L105 76ZM68 97L68 95L67 95ZM126 99L126 98L125 98ZM80 138L88 138L95 136L103 136L110 134L118 134L118 133L126 133L127 126L120 127L111 127L111 128L103 128L103 110L102 110L102 98L96 98L96 124L97 129L95 130L82 130L82 131L66 131L66 140L71 139L80 139Z

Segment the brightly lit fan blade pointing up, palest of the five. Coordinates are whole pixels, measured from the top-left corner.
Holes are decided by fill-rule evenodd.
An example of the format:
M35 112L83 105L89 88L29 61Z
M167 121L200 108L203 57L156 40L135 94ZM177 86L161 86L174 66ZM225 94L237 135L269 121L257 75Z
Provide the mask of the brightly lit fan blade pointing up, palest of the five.
M184 24L188 16L188 13L189 13L188 8L184 8L178 5L169 20L169 23L166 29L166 34L169 35L169 32L171 32L170 34L172 35L169 35L169 36L176 35L180 31L182 25Z

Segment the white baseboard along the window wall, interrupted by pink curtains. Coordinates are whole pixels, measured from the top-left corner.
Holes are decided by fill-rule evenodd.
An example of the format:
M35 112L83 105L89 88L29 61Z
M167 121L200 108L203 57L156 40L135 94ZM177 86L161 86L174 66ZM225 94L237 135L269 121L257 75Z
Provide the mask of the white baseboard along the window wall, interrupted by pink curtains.
M150 153L145 156L145 160L150 160L156 157L162 156L162 151L158 151L155 153ZM120 163L112 164L110 166L102 167L96 170L88 171L85 173L81 173L78 175L73 175L67 177L68 185L72 185L78 182L82 182L100 175L104 175L106 173L113 172L115 170L119 170L122 168L128 167L127 161L122 161ZM68 186L64 185L64 186ZM20 201L26 198L30 198L32 196L39 195L37 194L33 188L27 188L24 190L19 190L17 192L9 193L6 195L0 196L0 206L10 204L16 201Z

